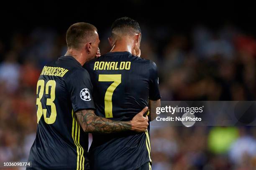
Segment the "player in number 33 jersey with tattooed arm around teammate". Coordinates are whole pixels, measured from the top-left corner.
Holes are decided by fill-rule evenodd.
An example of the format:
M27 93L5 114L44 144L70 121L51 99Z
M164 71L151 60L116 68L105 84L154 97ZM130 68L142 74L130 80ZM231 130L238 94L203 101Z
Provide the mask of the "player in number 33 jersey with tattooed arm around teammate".
M87 133L145 132L148 126L148 118L143 117L147 108L131 121L95 115L92 83L82 65L97 53L97 29L88 23L76 23L67 30L66 39L66 55L45 65L38 79L38 126L28 158L32 168L28 169L86 170Z

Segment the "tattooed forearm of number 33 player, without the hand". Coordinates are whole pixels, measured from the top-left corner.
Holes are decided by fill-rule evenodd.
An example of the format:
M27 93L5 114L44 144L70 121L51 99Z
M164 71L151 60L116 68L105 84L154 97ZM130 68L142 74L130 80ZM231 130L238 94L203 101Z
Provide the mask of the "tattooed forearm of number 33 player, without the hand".
M76 112L77 119L84 132L88 133L118 133L131 130L131 121L113 121L95 115L94 110Z

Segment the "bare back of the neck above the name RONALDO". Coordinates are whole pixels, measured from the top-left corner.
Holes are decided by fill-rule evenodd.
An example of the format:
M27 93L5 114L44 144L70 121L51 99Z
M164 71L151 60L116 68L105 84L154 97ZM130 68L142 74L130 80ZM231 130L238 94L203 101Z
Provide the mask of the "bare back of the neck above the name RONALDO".
M124 52L128 51L131 52L133 51L134 45L133 42L130 40L117 40L110 52Z

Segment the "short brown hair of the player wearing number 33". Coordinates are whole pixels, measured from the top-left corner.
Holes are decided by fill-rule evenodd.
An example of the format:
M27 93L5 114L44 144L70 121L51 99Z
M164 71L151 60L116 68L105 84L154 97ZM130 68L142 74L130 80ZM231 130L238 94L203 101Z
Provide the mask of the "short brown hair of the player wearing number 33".
M95 36L95 30L97 31L97 28L89 23L75 23L71 25L66 34L67 46L75 49L79 48L83 42Z

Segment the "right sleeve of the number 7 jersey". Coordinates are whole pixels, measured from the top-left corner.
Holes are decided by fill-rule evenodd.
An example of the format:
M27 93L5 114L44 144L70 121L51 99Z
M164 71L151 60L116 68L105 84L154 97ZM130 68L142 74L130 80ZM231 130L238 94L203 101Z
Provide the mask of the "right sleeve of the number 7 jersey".
M150 62L149 70L149 100L159 100L161 95L158 85L158 73L156 63Z

